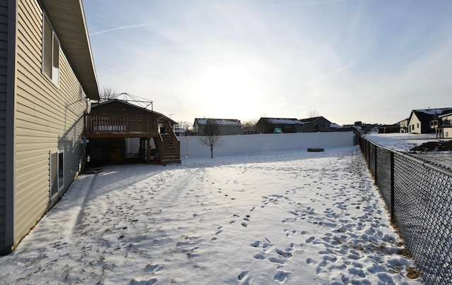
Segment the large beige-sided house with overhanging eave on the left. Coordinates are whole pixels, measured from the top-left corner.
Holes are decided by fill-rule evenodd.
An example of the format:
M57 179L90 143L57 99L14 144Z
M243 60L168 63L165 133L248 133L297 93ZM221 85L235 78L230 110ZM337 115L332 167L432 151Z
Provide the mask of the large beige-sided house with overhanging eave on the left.
M83 114L99 99L80 0L0 4L0 253L28 234L83 158Z

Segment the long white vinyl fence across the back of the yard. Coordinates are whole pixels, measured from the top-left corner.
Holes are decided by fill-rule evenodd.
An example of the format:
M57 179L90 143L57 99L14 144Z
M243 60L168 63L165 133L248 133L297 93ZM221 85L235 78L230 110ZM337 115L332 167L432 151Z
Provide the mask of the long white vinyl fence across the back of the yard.
M179 137L181 157L210 157L210 149L199 137ZM271 150L303 150L310 147L349 147L354 145L355 134L350 132L328 133L263 133L259 135L222 135L213 156L266 152Z

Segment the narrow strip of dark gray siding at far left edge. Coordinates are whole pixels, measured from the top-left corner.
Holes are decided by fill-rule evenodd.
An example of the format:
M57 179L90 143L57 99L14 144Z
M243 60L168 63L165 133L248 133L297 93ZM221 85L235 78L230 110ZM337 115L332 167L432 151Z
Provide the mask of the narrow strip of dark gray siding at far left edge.
M6 5L6 6L5 6ZM0 4L0 252L6 249L6 78L8 3Z

